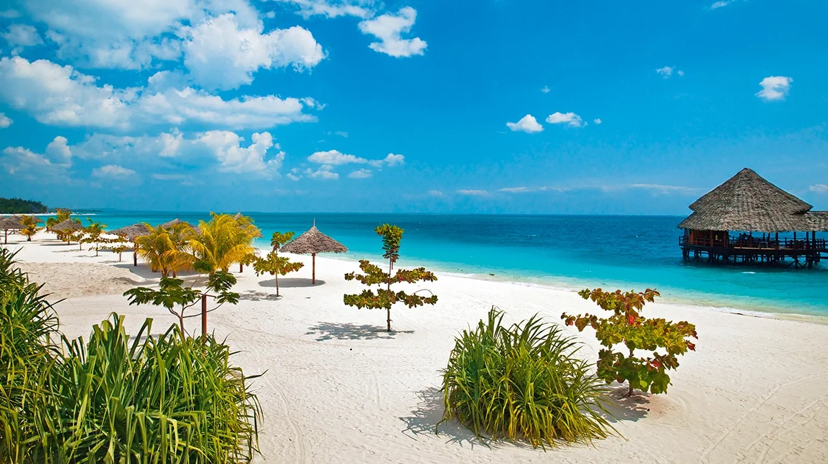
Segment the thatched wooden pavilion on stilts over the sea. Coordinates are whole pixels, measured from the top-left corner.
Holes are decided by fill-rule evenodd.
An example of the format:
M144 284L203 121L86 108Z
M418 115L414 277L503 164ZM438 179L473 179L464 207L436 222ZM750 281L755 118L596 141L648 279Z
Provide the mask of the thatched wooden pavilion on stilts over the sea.
M812 267L828 254L828 211L745 168L690 205L678 227L686 261ZM761 235L759 235L761 234Z

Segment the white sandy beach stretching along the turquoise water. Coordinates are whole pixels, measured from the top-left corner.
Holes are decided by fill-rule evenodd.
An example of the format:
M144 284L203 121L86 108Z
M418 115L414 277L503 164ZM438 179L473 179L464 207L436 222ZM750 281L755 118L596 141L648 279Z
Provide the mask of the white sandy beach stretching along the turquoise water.
M147 317L152 332L176 322L164 309L128 306L123 289L157 282L144 265L132 267L131 254L118 263L117 255L94 257L50 234L18 238L8 247L22 246L24 269L67 297L57 304L67 335L87 336L112 311L126 314L132 330ZM393 309L398 332L388 334L384 311L342 303L344 293L360 290L343 279L356 262L317 257L312 286L310 257L293 258L306 268L280 280L282 299L272 277L246 269L236 288L241 302L209 317L209 328L239 350L234 360L246 373L267 371L253 385L265 414L257 462L828 462L828 325L820 321L650 304L645 314L686 319L699 333L696 352L671 373L669 393L621 401L613 424L623 437L543 452L480 441L456 423L436 434L440 369L455 335L493 304L508 321L540 313L551 322L593 304L561 289L438 273L426 288L439 303ZM200 325L198 318L188 323ZM567 330L595 360L592 332Z

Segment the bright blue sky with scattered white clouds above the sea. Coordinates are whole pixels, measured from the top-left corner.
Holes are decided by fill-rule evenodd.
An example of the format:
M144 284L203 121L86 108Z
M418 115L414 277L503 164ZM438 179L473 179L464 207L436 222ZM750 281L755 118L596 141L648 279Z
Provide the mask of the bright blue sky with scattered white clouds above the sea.
M165 211L828 209L821 0L8 0L0 196Z

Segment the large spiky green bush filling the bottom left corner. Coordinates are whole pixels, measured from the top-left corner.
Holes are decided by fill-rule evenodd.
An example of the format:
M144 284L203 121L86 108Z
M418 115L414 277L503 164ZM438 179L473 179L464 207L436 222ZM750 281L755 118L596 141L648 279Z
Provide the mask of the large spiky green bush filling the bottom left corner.
M152 319L129 337L114 313L89 342L67 340L40 287L12 265L0 251L0 463L253 458L261 407L227 345L176 325L150 336Z

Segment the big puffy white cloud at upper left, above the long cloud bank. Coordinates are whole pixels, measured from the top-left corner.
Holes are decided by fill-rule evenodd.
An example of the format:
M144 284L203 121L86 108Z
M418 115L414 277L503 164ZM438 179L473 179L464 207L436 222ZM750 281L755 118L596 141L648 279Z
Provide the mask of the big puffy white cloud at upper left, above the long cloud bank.
M233 14L185 30L184 64L204 88L228 90L253 82L258 69L292 65L301 71L325 59L310 31L293 26L263 34L262 22L243 27Z

